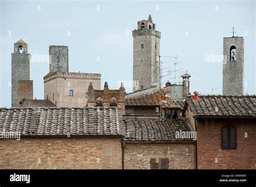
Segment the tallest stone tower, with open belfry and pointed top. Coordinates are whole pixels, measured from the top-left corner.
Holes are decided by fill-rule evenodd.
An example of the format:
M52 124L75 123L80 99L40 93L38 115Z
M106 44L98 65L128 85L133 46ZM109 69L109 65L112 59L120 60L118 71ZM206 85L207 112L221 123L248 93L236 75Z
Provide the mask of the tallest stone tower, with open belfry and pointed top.
M161 33L156 31L151 15L138 21L133 37L133 91L159 84L159 55Z

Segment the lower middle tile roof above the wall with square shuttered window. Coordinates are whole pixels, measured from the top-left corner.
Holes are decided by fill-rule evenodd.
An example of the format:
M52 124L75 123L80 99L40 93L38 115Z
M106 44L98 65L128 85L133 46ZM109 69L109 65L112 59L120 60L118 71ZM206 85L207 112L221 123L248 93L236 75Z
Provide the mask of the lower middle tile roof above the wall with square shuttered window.
M191 132L183 120L127 119L124 120L124 140L126 141L186 141L177 139L176 132Z

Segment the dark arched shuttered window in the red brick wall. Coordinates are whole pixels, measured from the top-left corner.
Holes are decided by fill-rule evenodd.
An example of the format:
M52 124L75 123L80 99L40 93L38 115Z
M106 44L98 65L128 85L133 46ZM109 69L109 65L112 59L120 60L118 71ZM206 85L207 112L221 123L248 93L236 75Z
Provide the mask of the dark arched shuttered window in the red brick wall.
M221 148L236 149L237 148L237 130L231 125L221 128Z

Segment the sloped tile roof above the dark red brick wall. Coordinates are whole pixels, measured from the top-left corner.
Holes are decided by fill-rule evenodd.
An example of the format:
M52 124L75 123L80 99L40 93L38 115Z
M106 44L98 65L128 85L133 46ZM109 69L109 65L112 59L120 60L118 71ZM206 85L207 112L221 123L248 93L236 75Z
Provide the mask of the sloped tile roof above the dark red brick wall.
M200 100L186 98L194 116L256 116L256 96L199 96Z

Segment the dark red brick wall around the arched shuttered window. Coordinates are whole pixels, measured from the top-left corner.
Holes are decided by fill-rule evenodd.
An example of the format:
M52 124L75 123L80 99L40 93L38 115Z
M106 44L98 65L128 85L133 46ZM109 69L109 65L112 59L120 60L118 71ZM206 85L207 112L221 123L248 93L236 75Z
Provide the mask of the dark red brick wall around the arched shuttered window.
M221 149L221 127L228 124L237 128L237 149ZM197 143L198 169L256 169L255 120L198 119Z

